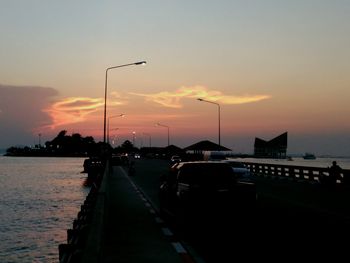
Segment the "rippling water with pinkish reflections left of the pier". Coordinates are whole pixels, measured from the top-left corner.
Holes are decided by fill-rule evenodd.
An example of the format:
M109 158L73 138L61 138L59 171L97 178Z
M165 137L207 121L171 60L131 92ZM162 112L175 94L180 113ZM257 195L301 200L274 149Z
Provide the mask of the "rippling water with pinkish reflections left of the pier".
M58 262L84 187L83 158L0 156L0 262Z

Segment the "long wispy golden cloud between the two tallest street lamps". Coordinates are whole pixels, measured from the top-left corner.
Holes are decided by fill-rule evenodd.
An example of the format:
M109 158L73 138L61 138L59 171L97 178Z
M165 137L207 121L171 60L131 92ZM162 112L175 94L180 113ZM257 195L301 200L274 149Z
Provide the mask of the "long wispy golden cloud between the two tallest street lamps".
M205 100L220 102L222 104L243 104L257 102L269 99L270 95L244 95L233 96L225 95L221 91L208 90L203 86L186 87L183 86L175 92L162 91L153 94L130 93L137 96L145 97L146 101L158 103L169 108L182 108L182 99L186 98L202 98Z

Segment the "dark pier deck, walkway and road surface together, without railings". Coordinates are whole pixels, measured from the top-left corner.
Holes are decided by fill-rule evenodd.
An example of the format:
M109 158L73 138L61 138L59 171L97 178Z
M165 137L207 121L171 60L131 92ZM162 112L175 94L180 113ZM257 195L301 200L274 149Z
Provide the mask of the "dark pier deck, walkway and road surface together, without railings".
M328 193L313 185L259 178L258 213L249 224L232 225L225 233L214 231L211 236L200 232L191 240L197 243L196 249L207 254L203 261L202 254L197 257L183 246L182 237L172 233L135 185L153 191L147 192L153 199L160 176L157 170L167 163L140 160L135 167L132 178L120 166L106 170L81 260L70 263L223 262L218 261L220 257L231 262L238 255L278 259L277 252L298 259L334 256L333 262L337 257L349 258L349 193Z

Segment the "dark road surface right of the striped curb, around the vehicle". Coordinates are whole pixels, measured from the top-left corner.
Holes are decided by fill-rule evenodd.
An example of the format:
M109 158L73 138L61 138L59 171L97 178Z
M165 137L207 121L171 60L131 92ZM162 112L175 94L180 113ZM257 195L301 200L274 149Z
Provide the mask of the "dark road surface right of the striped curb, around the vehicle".
M167 173L169 162L134 161L136 173L130 179L157 210L160 177ZM256 185L258 203L253 214L242 217L232 207L220 215L207 211L186 229L167 221L196 261L270 260L281 255L288 260L348 258L349 191L265 178L257 178Z

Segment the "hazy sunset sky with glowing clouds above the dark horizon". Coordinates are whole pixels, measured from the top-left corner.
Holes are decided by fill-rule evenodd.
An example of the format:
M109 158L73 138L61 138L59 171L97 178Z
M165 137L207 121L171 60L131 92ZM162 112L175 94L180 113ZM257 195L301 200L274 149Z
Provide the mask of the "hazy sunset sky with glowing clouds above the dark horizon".
M348 0L1 0L0 148L59 131L350 156ZM40 136L39 136L40 134Z

